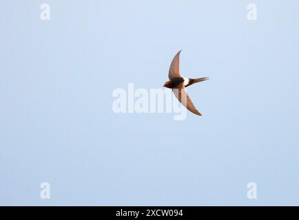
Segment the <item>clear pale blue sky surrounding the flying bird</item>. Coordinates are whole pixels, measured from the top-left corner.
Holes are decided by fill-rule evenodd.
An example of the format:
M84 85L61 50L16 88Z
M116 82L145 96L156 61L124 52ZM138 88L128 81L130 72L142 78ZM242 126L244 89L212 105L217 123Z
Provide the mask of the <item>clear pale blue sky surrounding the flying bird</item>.
M298 206L299 1L19 0L0 18L0 205ZM112 111L178 50L210 77L188 89L202 117Z

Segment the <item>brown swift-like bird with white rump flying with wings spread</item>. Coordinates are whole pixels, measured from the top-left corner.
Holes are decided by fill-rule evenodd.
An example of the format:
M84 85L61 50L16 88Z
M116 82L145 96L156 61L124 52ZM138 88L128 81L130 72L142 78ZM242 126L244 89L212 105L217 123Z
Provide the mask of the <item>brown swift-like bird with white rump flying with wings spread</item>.
M167 87L172 89L176 98L192 113L196 115L202 115L199 111L197 111L196 107L192 103L192 100L189 98L185 87L189 87L194 83L203 82L208 80L209 77L203 78L185 78L180 72L180 54L181 50L174 56L172 63L169 67L168 78L169 80L163 85L163 87Z

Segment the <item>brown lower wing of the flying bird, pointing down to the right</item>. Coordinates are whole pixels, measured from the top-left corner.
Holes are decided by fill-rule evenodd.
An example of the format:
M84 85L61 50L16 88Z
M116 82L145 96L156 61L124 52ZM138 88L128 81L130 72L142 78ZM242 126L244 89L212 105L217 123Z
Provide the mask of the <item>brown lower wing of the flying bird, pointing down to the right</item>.
M185 106L189 111L196 115L201 115L199 111L197 111L196 107L194 106L192 100L189 98L187 91L185 89L184 83L181 83L174 89L172 89L176 98Z

